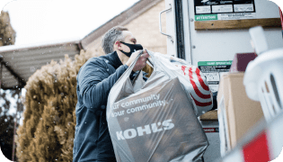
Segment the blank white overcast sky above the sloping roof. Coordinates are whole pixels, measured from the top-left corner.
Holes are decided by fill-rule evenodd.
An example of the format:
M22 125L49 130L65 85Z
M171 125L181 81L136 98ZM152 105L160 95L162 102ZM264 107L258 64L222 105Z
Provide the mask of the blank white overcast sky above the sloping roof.
M17 0L6 4L15 45L77 40L139 0Z

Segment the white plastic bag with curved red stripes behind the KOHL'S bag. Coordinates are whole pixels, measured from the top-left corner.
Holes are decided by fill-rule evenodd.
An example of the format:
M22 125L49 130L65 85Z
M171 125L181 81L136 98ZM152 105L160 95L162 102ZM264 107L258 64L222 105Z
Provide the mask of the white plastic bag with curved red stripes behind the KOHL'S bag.
M207 78L198 67L189 65L181 58L175 58L158 52L151 52L160 62L180 79L186 94L192 99L197 116L208 112L213 106L213 95L208 86Z

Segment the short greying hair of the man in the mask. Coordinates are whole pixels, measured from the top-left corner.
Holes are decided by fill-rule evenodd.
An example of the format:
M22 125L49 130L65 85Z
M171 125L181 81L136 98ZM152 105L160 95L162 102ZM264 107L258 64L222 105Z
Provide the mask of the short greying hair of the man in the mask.
M111 53L114 51L113 45L115 41L120 40L123 41L124 35L122 31L128 31L128 28L123 26L115 26L111 28L111 30L107 31L102 37L102 49L105 54Z

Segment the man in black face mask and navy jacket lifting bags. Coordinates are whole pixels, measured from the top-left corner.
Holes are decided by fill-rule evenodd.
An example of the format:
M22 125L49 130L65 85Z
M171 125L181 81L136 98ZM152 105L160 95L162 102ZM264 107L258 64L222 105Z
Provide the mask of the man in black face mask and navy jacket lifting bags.
M77 104L73 161L116 161L106 121L111 87L143 49L127 28L117 26L102 38L106 56L90 58L76 77ZM137 50L137 51L135 51ZM146 66L148 54L138 58L133 71ZM119 92L117 92L119 93Z

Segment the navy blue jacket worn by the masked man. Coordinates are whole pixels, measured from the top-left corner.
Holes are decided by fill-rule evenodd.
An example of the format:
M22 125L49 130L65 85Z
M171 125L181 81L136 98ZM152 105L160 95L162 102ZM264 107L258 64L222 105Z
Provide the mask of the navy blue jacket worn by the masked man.
M73 161L116 161L106 121L111 87L126 69L116 52L90 58L76 76Z

